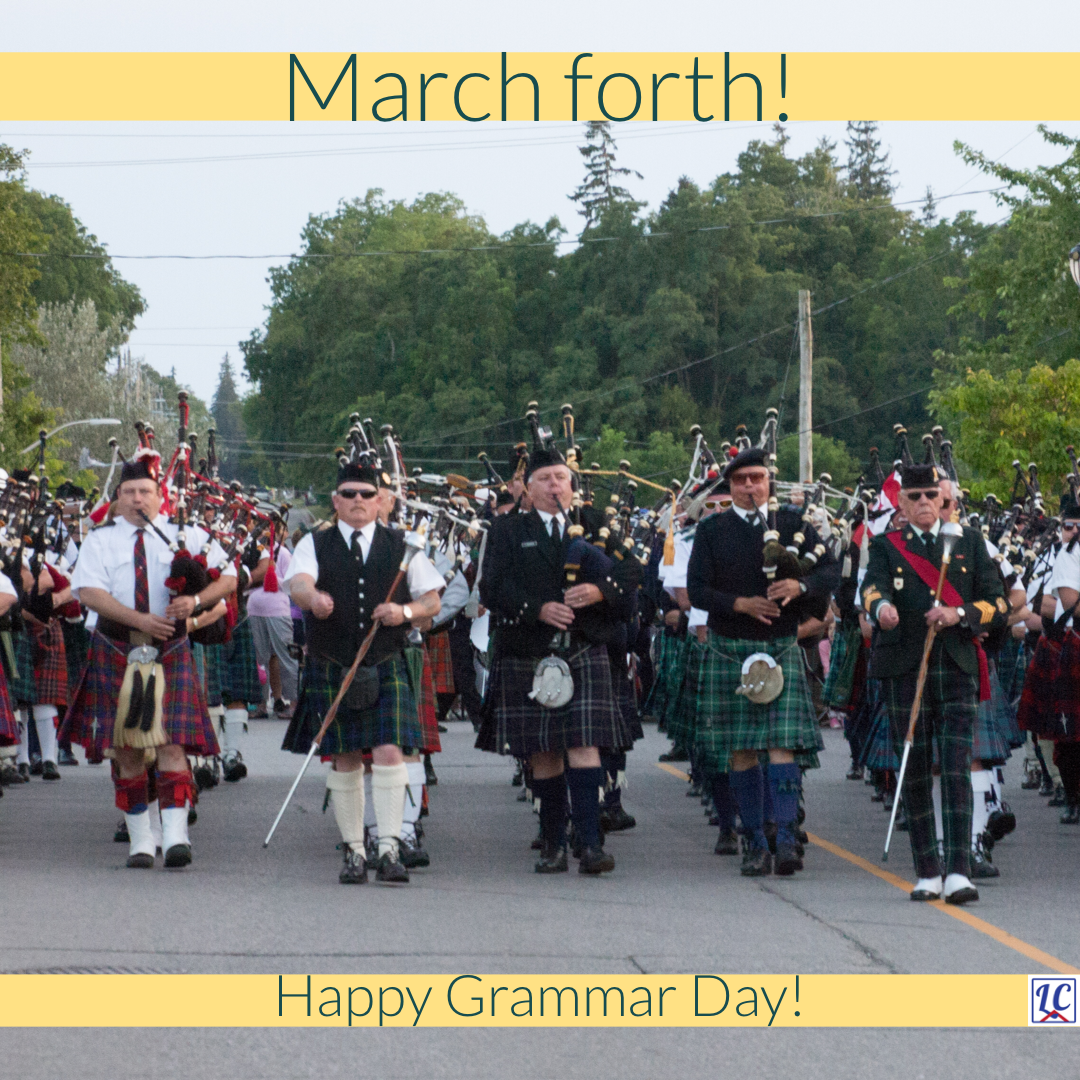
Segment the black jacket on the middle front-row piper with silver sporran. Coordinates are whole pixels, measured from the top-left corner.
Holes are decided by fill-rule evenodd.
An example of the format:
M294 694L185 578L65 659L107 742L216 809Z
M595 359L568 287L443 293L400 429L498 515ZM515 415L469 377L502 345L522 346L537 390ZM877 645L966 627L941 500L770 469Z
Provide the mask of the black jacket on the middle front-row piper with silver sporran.
M565 536L557 542L551 538L535 510L507 514L494 523L480 595L491 612L497 656L539 658L551 651L557 631L540 622L540 609L550 600L563 603L569 546ZM579 576L576 583L586 581ZM597 585L604 599L577 608L570 632L582 644L607 645L618 633L619 623L633 615L636 583L627 585L618 564L599 580L588 583Z

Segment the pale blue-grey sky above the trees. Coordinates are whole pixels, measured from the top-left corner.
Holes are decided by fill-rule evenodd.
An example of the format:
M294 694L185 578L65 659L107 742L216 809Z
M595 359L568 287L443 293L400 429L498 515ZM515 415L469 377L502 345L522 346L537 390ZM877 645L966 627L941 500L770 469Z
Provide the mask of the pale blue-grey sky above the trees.
M392 50L917 50L1040 51L1078 29L1074 4L1035 0L1017 19L1013 3L887 5L773 2L768 5L631 0L610 4L554 0L542 6L417 0L408 5L238 0L184 5L37 0L5 12L4 51L392 51ZM542 12L543 17L538 17ZM661 13L662 16L661 17ZM1055 130L1080 136L1080 122L1053 118L1072 102L1048 103ZM2 103L0 103L2 110ZM1072 111L1076 116L1076 112ZM894 195L917 207L931 187L939 213L1003 211L983 189L994 184L954 151L959 139L1010 165L1059 160L1029 122L882 123L896 168ZM734 168L751 138L771 125L657 123L617 125L619 163L643 180L626 186L656 207L683 175L706 185ZM571 123L373 125L366 123L10 122L0 141L30 151L32 187L60 195L113 256L243 255L244 259L122 259L147 312L132 335L135 355L208 400L221 357L239 362L238 342L262 325L267 271L299 249L309 215L381 188L411 200L450 191L496 233L557 216L571 234L580 218L567 194L583 168ZM845 124L793 122L788 152L822 137L842 144ZM842 154L842 145L839 146ZM1078 238L1080 239L1080 238ZM241 373L242 374L242 373Z

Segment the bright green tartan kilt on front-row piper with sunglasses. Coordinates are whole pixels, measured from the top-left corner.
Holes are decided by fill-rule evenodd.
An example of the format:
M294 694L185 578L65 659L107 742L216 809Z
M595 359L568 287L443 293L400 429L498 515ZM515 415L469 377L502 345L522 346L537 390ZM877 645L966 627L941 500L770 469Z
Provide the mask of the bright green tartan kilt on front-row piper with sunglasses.
M767 705L735 694L743 661L768 652L784 672L784 689ZM794 637L747 642L710 632L698 689L697 746L714 769L727 768L737 750L793 750L804 768L818 768L818 718L802 656Z

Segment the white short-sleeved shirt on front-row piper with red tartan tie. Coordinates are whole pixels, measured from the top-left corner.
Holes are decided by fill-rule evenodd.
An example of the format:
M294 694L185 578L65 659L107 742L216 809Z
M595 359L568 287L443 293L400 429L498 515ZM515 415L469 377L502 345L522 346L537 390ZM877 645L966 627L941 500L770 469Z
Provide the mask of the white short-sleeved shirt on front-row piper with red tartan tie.
M159 514L153 523L161 531L175 540L179 526L170 525L164 515ZM83 589L104 589L125 607L135 607L135 532L139 528L119 515L111 525L93 529L82 542L79 562L71 575L71 592L80 599ZM184 529L187 548L198 555L210 539L208 534L194 525ZM165 579L173 565L173 552L149 525L143 529L143 545L146 549L146 576L150 586L150 612L164 616L172 595L165 588ZM221 571L222 577L235 577L237 569L225 557L220 544L214 540L206 552L206 565Z

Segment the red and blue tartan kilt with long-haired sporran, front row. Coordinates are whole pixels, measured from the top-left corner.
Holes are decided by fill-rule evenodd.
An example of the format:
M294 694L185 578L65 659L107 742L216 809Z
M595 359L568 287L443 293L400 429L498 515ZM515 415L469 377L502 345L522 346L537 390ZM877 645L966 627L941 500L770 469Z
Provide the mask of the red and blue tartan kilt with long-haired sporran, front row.
M214 725L195 678L191 648L186 637L158 646L165 670L163 727L168 742L189 754L213 757L218 753ZM104 634L92 634L82 678L60 725L60 739L79 743L91 761L100 761L112 745L117 699L127 667L131 646Z

